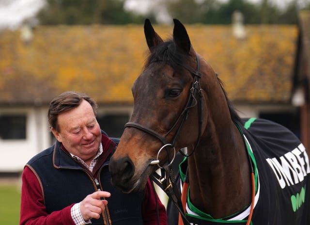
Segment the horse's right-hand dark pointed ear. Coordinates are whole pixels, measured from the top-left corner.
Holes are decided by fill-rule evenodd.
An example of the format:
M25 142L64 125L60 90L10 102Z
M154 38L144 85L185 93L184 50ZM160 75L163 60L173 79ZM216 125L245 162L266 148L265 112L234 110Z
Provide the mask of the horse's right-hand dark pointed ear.
M190 40L184 25L177 19L173 19L173 40L179 48L182 48L186 53L190 50Z

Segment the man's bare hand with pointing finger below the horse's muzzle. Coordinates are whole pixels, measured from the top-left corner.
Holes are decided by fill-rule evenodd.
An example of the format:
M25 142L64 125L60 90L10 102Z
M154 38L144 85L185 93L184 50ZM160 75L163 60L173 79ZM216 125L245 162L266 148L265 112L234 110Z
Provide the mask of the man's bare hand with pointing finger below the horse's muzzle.
M85 221L91 218L100 218L100 214L105 210L105 206L108 204L107 200L101 200L104 197L109 197L109 192L94 192L87 195L80 203L80 211Z

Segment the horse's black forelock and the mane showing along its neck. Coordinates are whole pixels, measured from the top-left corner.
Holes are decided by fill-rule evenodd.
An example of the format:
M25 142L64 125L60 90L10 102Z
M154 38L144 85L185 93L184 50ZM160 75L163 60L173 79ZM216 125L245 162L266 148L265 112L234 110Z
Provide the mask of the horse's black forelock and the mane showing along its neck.
M146 59L146 63L144 65L144 69L146 69L153 62L161 62L162 64L169 64L173 70L177 73L182 73L184 69L189 70L191 73L194 73L195 70L189 67L185 62L189 60L189 55L185 54L184 51L180 50L175 42L172 39L169 39L163 42L160 45L152 48L148 58ZM224 89L222 81L217 77L217 80L220 84L221 89L225 95L227 105L229 108L230 115L232 117L233 122L237 122L239 124L243 124L240 116L233 108L226 91Z

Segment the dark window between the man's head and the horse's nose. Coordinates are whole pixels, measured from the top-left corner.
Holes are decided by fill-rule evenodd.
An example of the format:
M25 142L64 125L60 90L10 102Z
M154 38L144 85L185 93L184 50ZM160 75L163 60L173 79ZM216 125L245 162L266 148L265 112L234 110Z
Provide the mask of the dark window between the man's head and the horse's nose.
M120 138L122 136L125 123L127 123L128 120L128 114L97 115L100 128L105 131L109 137L113 138Z

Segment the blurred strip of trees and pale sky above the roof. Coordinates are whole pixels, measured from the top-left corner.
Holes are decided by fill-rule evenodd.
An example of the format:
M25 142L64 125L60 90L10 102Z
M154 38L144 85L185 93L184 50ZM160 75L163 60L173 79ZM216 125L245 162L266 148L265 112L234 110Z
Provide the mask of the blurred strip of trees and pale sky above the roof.
M297 14L309 9L309 0L1 0L0 28L19 26L25 19L35 25L230 24L234 11L246 24L296 24Z

